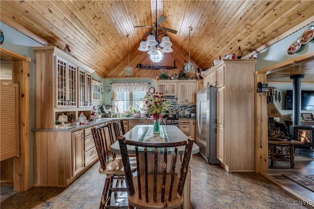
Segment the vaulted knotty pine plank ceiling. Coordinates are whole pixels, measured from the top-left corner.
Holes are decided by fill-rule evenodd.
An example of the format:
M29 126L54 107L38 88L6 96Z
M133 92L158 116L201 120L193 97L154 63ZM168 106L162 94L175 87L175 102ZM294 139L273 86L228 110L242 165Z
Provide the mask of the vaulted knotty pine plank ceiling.
M149 28L134 26L156 22L156 0L1 0L0 9L1 22L46 46L70 45L101 77L123 77L117 69L128 64L127 34L135 68L147 56L137 47ZM191 59L205 69L238 46L243 59L261 51L311 23L314 10L311 0L157 0L157 19L160 15L167 17L160 26L178 31L167 33L174 52L165 56L187 61L190 25Z

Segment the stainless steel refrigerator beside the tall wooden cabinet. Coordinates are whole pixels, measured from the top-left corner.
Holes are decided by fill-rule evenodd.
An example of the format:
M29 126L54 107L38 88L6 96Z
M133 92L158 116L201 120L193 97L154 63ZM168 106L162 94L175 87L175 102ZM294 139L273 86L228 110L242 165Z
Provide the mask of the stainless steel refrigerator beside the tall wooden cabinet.
M196 144L208 163L220 163L216 157L217 88L209 87L196 93Z

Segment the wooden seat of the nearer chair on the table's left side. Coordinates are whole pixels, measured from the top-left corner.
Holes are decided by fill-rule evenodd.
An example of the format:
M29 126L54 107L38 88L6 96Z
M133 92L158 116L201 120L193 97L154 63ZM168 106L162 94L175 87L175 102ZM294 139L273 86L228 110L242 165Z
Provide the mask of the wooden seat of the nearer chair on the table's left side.
M132 159L132 161L130 161L130 165L131 165L131 171L132 172L136 171L136 159L135 158ZM99 173L124 175L124 167L123 167L122 159L116 158L110 163L107 163L105 170L103 170L102 167L99 167Z

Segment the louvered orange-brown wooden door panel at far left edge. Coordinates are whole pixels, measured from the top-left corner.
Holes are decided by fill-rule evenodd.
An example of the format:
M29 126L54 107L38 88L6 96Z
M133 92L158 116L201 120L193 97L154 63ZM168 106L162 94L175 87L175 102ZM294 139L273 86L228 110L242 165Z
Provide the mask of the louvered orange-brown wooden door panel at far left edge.
M19 85L0 83L0 159L20 154Z

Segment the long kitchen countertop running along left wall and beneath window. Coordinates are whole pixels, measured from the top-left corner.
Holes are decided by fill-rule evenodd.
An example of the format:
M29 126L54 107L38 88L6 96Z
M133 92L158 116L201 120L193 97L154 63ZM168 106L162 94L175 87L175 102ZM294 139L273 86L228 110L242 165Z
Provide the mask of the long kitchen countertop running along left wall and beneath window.
M77 130L80 130L80 129L83 129L83 128L89 128L89 127L92 127L94 125L99 125L99 124L102 124L102 123L106 123L106 122L109 122L111 120L120 120L120 119L123 119L123 120L127 120L127 119L145 119L145 117L103 117L103 118L98 118L96 120L93 120L93 121L88 121L86 122L86 124L75 124L75 123L71 123L71 125L68 125L68 128L67 129L61 129L61 128L51 128L51 129L43 129L43 128L35 128L35 129L32 129L31 131L33 132L40 132L40 131L70 131L70 132L73 132L73 131L77 131ZM179 119L196 119L195 117L179 117Z

